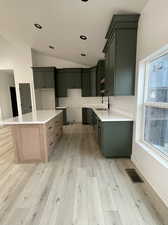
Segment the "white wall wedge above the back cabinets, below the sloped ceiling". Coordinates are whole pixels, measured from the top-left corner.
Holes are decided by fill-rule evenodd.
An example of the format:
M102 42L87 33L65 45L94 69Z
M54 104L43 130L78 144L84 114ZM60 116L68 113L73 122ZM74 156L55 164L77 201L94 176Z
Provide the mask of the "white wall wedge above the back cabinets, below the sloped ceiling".
M55 66L57 68L85 68L86 66L49 56L32 50L33 66Z

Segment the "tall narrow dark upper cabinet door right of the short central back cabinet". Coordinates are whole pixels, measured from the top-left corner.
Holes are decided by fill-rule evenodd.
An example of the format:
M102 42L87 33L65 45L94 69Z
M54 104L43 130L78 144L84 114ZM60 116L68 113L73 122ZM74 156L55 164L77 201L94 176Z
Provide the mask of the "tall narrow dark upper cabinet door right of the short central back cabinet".
M82 70L82 97L91 96L90 69Z

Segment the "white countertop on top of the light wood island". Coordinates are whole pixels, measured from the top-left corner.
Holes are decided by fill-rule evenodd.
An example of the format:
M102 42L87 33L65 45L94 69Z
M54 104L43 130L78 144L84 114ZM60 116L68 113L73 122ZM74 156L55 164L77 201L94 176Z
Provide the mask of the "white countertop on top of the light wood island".
M21 117L12 117L2 121L2 125L19 125L19 124L45 124L62 110L38 110L35 113L27 113Z

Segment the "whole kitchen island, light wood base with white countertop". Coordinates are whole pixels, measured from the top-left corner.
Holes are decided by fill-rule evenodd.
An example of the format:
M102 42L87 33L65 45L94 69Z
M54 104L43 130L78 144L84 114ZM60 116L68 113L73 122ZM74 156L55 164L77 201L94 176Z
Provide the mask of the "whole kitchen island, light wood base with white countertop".
M47 162L62 136L63 112L41 110L3 121L10 126L18 163Z

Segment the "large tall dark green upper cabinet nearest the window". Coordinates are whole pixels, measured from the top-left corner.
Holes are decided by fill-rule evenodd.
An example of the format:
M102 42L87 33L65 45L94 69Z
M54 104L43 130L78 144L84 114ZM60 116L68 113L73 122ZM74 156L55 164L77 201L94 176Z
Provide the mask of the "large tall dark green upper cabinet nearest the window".
M106 35L107 95L134 95L139 15L114 15Z

